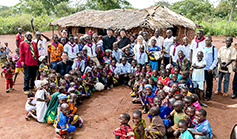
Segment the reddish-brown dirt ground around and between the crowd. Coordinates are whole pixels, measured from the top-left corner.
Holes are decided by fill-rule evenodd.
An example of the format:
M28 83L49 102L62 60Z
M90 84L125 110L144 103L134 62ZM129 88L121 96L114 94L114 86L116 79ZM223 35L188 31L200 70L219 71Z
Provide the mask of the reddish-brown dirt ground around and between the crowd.
M49 37L51 32L45 32ZM213 37L213 44L220 48L224 46L223 37ZM15 36L0 36L0 42L8 42L12 51L15 49ZM237 42L237 39L235 39ZM13 54L12 54L13 55ZM231 81L233 74L231 75ZM217 81L214 81L214 91ZM5 80L0 79L0 138L1 139L52 139L56 137L52 125L40 124L34 120L25 121L24 117L26 96L23 93L23 74L21 73L14 86L15 90L5 93ZM220 95L213 96L208 104L207 119L211 123L214 138L229 138L232 127L237 123L236 108L229 108L228 105L237 104L237 99L232 100L232 82L230 82L229 97ZM140 105L131 103L129 97L130 89L119 86L109 91L95 92L92 97L79 106L78 115L84 119L84 126L77 129L74 138L82 139L111 139L113 130L119 126L118 117L121 113L127 112L130 115L135 109L141 109ZM148 118L143 115L147 124ZM132 122L130 124L133 126Z

